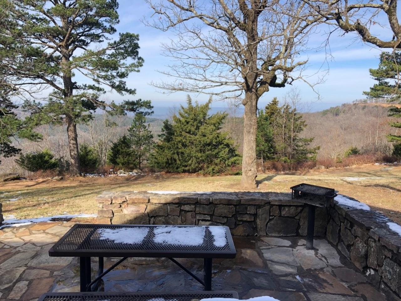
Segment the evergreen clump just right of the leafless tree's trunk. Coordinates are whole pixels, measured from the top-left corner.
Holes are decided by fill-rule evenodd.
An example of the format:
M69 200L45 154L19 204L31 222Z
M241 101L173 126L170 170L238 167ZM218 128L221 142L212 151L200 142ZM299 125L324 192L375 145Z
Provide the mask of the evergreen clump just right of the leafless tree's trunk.
M280 107L277 98L274 98L264 112L259 113L256 140L258 158L263 154L266 159L284 163L316 160L320 147L310 147L314 138L300 137L305 127L306 122L296 108L288 104Z

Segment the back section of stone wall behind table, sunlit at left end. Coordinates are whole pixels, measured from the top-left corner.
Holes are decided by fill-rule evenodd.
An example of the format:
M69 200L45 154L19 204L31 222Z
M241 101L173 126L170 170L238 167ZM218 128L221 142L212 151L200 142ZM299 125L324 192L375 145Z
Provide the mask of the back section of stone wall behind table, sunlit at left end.
M308 210L291 194L274 192L105 192L97 197L104 224L225 225L233 235L304 236ZM327 210L316 210L325 236Z

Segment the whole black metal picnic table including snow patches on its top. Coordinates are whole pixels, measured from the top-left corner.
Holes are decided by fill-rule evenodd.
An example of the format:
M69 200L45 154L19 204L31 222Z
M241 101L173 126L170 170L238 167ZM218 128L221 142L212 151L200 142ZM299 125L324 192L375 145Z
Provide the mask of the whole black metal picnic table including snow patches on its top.
M235 258L236 254L226 226L75 224L49 250L52 257L79 257L81 292L95 291L99 280L129 257L168 258L211 291L212 259ZM99 257L94 281L91 257ZM123 258L103 272L103 257ZM203 280L174 258L204 259Z

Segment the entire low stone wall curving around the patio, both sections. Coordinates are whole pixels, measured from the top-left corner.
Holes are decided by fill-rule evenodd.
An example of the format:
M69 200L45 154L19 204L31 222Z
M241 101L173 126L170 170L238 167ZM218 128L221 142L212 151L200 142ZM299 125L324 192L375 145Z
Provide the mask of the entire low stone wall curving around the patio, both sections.
M96 200L103 224L226 225L239 236L306 235L307 207L288 193L125 191ZM401 236L386 216L349 205L333 200L316 208L315 236L326 236L389 301L401 301Z

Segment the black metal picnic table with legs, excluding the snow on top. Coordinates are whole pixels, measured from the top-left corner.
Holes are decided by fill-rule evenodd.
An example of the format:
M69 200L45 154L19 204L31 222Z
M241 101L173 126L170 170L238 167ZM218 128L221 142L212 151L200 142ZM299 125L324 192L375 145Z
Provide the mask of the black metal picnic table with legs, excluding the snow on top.
M166 227L204 227L203 242L196 245L156 242L154 240L155 231L158 231L156 229ZM213 258L230 259L235 258L237 254L229 228L221 227L225 229L226 243L224 246L217 246L214 243L215 238L209 230L209 226L75 224L51 247L49 256L79 257L81 292L95 290L104 275L129 257L168 258L201 283L205 287L205 291L211 291ZM104 237L101 238L104 229L119 230L122 228L148 228L149 230L146 237L136 243L115 242L104 239ZM98 274L93 281L91 280L91 257L99 258ZM122 259L103 271L103 257L122 257ZM203 281L174 258L203 258Z

